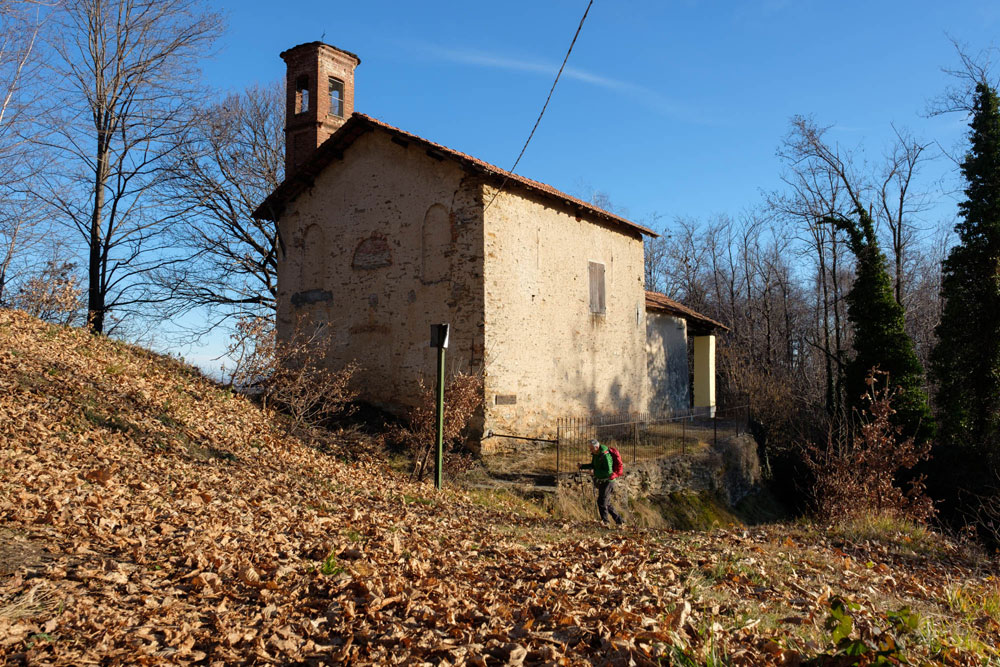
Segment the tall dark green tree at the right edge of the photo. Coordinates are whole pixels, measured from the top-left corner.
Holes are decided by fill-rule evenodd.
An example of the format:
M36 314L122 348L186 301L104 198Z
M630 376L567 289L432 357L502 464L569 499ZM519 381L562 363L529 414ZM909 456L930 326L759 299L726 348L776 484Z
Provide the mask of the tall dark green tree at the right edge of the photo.
M942 265L945 301L931 370L941 443L1000 454L1000 110L976 85L971 147L962 162L959 244ZM982 466L980 466L982 467Z

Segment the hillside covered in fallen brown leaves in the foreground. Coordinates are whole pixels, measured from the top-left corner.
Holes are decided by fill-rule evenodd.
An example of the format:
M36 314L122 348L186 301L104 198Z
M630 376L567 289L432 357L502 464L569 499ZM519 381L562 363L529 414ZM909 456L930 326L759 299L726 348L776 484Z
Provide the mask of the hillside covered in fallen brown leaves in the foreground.
M350 440L0 310L0 660L1000 659L997 572L931 533L603 532L409 484Z

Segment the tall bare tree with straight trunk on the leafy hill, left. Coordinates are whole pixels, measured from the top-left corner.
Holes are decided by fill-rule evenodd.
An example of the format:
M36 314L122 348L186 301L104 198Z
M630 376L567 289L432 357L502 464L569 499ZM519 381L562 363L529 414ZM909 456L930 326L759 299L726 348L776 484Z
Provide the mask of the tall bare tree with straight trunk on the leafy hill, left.
M222 26L201 0L69 0L52 46L63 99L46 122L62 160L48 196L87 249L88 323L148 304L171 261L151 193L191 119L197 63Z

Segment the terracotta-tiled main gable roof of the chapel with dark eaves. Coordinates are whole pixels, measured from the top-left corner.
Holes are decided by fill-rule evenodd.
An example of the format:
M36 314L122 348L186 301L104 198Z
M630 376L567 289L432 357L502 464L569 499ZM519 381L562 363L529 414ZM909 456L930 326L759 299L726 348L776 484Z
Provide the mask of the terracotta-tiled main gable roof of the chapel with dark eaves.
M350 119L344 123L344 125L329 139L324 141L323 144L316 149L316 152L314 152L312 156L298 168L298 171L296 171L291 178L285 179L285 181L279 185L267 199L264 200L264 203L257 207L257 210L254 211L253 214L254 217L263 218L265 220L274 220L277 218L281 214L281 210L284 208L285 204L295 199L295 197L297 197L303 190L310 187L316 176L318 176L328 164L341 157L344 149L354 143L354 140L365 132L376 128L389 132L403 141L420 144L424 146L428 153L434 157L455 160L467 169L494 176L499 182L503 182L503 179L506 178L507 185L505 189L509 189L511 186L521 186L532 192L544 195L549 199L554 199L562 204L568 205L571 208L597 218L607 220L608 222L621 225L630 230L639 232L640 234L658 236L658 234L651 229L647 229L642 225L637 225L631 220L626 220L625 218L615 215L614 213L609 213L608 211L598 208L581 199L571 197L565 192L555 189L551 185L533 181L530 178L525 178L524 176L518 176L517 174L501 169L500 167L494 166L488 162L474 158L471 155L466 155L465 153L460 153L459 151L452 150L446 146L442 146L441 144L428 141L415 134L410 134L409 132L400 130L397 127L393 127L392 125L383 123L380 120L376 120L371 116L366 116L365 114L357 112L352 114Z

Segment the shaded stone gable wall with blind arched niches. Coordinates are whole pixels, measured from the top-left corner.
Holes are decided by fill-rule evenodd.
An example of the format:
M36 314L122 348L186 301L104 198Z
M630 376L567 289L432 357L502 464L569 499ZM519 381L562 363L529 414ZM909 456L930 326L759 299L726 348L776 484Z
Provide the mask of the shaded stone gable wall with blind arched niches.
M430 325L452 325L449 372L483 359L482 186L375 130L281 216L278 334L328 324L331 365L357 361L363 398L412 405L432 386Z

